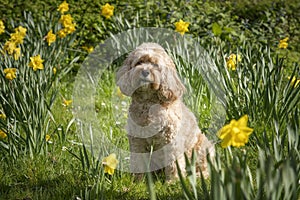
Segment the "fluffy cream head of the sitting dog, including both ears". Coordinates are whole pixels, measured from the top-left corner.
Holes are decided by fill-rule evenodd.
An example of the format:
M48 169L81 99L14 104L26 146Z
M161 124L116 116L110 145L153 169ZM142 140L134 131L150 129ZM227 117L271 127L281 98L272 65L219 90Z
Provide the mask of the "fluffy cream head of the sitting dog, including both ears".
M180 98L185 90L172 59L156 43L143 43L129 54L117 72L117 85L127 96L157 92L162 101Z

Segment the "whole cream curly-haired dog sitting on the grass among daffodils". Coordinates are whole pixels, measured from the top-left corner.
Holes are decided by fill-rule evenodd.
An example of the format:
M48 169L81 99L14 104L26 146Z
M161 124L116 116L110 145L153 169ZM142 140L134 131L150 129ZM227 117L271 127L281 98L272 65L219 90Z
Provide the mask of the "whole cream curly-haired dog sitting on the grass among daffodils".
M197 170L207 177L206 155L214 155L214 145L182 102L185 87L165 50L156 43L137 47L117 72L117 85L132 98L127 122L131 171L143 173L164 167L166 177L173 179L177 177L175 161L184 173L184 153L191 156L194 149ZM145 153L152 155L150 169L140 156Z

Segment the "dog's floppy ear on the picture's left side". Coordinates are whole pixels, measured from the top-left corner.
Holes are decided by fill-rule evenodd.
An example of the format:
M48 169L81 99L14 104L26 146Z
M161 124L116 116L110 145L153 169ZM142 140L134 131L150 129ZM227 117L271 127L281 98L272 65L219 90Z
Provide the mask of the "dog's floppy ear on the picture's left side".
M127 58L122 67L117 71L116 75L116 81L117 85L120 87L121 92L126 96L132 95L132 89L130 84L130 77L129 77L129 71L130 71L130 65L131 65L131 59Z

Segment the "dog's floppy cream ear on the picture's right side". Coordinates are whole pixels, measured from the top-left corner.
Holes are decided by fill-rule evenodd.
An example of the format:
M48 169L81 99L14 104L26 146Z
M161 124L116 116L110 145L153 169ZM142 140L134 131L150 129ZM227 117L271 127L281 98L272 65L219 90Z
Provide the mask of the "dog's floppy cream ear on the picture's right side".
M170 61L168 66L165 66L160 90L161 95L167 101L173 101L180 98L186 90L179 76L177 75L176 67L173 61Z

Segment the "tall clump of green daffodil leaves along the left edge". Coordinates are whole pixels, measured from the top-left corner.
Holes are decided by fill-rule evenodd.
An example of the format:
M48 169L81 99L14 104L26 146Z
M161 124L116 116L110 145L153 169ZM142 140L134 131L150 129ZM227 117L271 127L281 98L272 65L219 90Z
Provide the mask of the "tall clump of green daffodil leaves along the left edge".
M60 28L55 16L48 16L48 19L43 18L35 23L32 16L25 13L24 21L19 25L27 29L27 34L18 59L1 48L4 55L0 58L0 110L6 118L0 121L0 129L8 135L0 143L2 158L17 158L24 153L33 157L35 154L46 153L46 135L55 134L55 130L50 128L51 123L55 127L51 108L59 92L59 81L71 69L63 63L63 59L74 37L57 39L48 45L45 41L47 32L51 29L56 32ZM12 21L12 27L17 27L17 22ZM30 68L33 66L33 57L37 55L40 56L39 70ZM16 68L13 80L3 74L6 68Z

